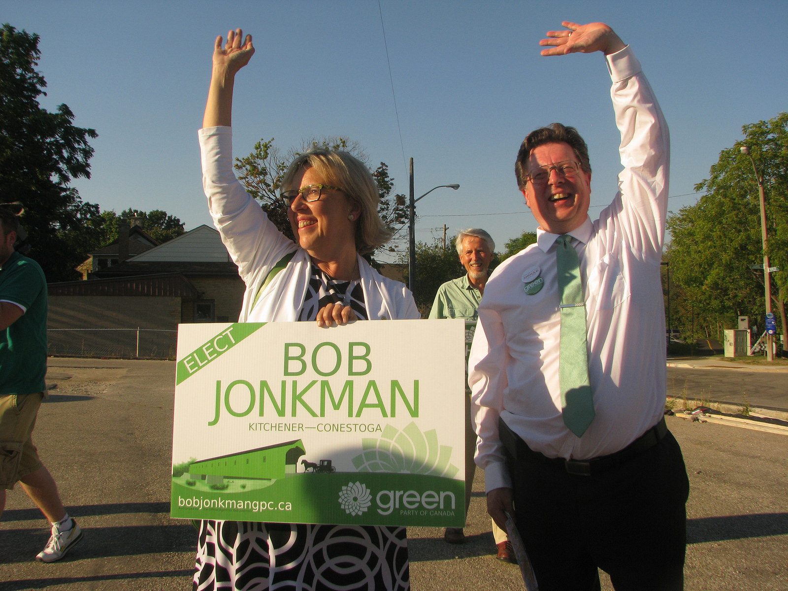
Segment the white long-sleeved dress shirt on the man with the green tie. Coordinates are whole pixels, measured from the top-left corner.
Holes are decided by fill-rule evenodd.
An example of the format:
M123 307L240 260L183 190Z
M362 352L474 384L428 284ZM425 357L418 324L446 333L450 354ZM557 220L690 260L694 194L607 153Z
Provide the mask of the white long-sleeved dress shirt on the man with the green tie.
M667 124L630 47L606 56L621 132L619 192L597 221L569 232L580 258L589 378L596 416L582 437L561 416L556 234L502 263L485 287L470 351L479 440L476 463L488 491L511 486L498 417L552 458L618 452L663 415L665 321L660 261L667 214ZM541 290L525 292L539 274Z

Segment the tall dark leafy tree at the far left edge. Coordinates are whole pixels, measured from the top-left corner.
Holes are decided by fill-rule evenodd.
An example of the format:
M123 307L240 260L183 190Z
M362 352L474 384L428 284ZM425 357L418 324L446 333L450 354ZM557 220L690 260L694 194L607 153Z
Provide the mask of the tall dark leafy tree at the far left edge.
M20 201L29 255L47 281L68 281L74 267L102 238L99 206L84 203L70 183L90 178L94 129L72 125L66 105L50 113L39 105L46 81L35 71L39 36L0 30L0 200Z

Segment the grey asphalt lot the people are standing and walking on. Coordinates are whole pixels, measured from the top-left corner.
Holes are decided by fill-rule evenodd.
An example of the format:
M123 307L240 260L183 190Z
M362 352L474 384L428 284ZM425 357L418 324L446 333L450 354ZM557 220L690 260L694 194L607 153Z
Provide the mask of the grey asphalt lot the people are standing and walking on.
M0 589L191 589L195 531L168 516L173 370L173 362L50 359L47 381L58 387L39 413L35 441L84 541L61 562L35 562L47 524L24 492L9 492ZM703 372L703 383L723 372L684 371ZM713 379L733 381L727 372ZM674 381L693 384L680 377L687 375ZM788 589L788 437L667 421L691 485L686 589ZM522 589L517 567L492 554L482 476L466 545L446 545L442 530L408 531L415 591Z

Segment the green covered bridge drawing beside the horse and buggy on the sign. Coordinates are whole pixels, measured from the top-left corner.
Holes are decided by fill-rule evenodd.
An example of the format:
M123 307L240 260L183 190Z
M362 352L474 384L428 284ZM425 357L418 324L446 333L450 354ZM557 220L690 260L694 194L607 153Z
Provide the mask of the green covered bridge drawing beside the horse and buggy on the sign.
M265 448L201 459L189 465L191 478L206 478L208 484L221 483L224 478L277 480L296 474L298 459L306 452L300 439Z

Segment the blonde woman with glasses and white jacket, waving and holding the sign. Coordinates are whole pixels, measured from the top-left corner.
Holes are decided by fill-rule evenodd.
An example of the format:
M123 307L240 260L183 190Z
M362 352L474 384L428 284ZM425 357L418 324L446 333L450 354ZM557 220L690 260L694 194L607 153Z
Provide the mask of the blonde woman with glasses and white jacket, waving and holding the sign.
M411 292L361 255L390 238L366 166L346 152L296 158L281 185L297 243L281 234L232 171L232 89L255 48L217 37L203 129L203 188L246 283L240 322L419 318ZM194 589L410 589L404 527L203 521Z

